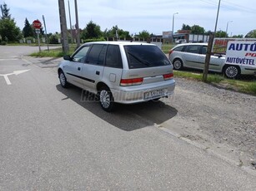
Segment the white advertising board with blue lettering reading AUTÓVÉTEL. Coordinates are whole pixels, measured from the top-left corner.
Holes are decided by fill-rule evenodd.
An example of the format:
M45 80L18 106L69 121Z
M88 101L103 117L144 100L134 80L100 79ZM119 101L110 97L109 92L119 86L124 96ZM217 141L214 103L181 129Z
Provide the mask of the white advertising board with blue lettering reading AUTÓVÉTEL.
M229 41L226 63L256 67L256 42Z

